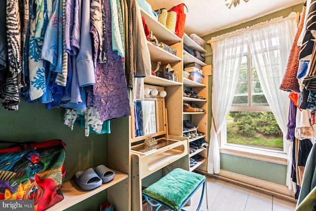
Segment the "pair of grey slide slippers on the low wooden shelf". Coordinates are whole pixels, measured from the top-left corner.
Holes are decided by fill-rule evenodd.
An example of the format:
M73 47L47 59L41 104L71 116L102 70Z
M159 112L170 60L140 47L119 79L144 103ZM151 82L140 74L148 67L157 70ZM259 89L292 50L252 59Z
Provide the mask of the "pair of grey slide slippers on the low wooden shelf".
M90 168L85 171L78 171L75 174L75 181L78 183L82 190L92 190L113 180L115 172L108 169L104 165Z

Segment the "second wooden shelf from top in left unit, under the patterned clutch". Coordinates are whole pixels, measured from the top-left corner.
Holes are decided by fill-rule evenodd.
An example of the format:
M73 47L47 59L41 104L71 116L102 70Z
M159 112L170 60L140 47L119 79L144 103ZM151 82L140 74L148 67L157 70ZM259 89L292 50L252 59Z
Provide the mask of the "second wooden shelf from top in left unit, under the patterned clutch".
M161 61L161 64L168 64L172 62L180 62L182 60L180 57L163 50L152 42L148 41L147 45L149 48L151 60L154 62Z

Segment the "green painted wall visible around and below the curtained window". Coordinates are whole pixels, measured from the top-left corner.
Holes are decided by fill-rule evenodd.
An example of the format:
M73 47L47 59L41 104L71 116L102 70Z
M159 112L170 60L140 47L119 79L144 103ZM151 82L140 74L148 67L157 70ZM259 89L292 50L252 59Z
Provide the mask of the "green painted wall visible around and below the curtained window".
M207 42L212 37L223 35L228 32L233 32L237 29L242 29L247 26L252 26L254 24L265 22L267 20L271 20L273 18L280 17L280 16L286 17L291 12L302 12L302 8L303 8L303 3L297 4L295 6L282 9L280 11L257 18L255 20L239 24L235 27L223 29L218 32L203 36L202 39L205 42ZM205 62L207 64L212 64L212 51L209 44L206 44L205 50L207 51L207 53L205 53L206 55ZM212 84L209 84L209 87L211 86ZM209 96L209 102L211 102L210 96ZM211 125L211 114L209 117L208 125L209 126ZM287 169L286 165L275 164L275 163L266 162L266 161L259 161L259 160L249 159L249 158L243 158L243 157L228 155L228 154L223 154L223 153L220 154L220 159L221 159L221 169L223 170L250 176L257 179L262 179L265 181L274 182L276 184L285 185L286 169Z

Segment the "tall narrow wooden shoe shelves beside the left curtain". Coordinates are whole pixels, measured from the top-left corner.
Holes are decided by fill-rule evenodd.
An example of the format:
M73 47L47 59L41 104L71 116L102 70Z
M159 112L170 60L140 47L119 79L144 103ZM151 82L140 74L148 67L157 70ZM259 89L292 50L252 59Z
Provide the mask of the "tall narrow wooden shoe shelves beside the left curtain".
M192 50L197 50L200 53L206 53L206 51L199 46L196 42L194 42L187 34L184 34L183 36L183 42L188 47L190 47ZM204 62L200 61L187 51L183 50L183 65L196 62L197 64L202 66L203 71L203 81L202 83L197 83L192 80L183 79L183 104L189 104L189 105L196 105L197 108L200 108L199 111L191 111L187 112L187 110L192 109L185 109L187 105L184 105L184 111L183 111L183 121L190 121L190 123L197 128L190 128L189 131L184 130L183 134L186 135L188 132L193 132L194 134L197 134L197 131L202 132L202 135L196 135L194 137L189 138L189 169L190 171L193 171L194 169L202 169L207 170L206 166L206 160L207 160L207 148L206 147L200 147L196 150L190 150L190 146L199 141L199 140L205 140L208 142L209 134L208 134L208 84L209 84L209 76L211 76L211 65L206 65ZM183 69L184 71L184 69ZM189 96L185 94L185 91L189 92ZM193 96L190 96L190 92ZM204 99L203 99L204 98ZM192 106L193 107L193 106ZM208 145L208 144L207 144ZM195 162L195 165L192 164L192 159L199 156L198 161Z

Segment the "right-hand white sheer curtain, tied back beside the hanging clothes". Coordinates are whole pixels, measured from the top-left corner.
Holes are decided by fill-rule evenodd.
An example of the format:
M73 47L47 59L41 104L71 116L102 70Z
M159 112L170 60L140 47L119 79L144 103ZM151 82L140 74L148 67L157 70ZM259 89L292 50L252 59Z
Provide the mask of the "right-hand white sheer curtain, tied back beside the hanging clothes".
M279 89L282 82L288 56L297 30L296 13L287 18L275 19L249 30L248 44L258 79L276 122L283 132L283 149L291 155L292 145L286 139L289 98L288 93ZM291 188L290 169L292 158L287 159L286 184Z

